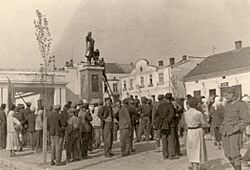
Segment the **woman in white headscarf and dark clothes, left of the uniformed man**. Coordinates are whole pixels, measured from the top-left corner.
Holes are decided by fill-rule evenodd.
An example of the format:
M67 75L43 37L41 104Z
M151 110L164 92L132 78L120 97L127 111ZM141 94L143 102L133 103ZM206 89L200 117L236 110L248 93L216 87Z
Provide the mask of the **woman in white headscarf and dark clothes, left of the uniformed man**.
M221 133L220 128L224 117L224 107L222 106L221 97L215 97L214 104L211 106L210 114L212 116L211 127L214 130L215 145L218 145L218 149L221 149Z

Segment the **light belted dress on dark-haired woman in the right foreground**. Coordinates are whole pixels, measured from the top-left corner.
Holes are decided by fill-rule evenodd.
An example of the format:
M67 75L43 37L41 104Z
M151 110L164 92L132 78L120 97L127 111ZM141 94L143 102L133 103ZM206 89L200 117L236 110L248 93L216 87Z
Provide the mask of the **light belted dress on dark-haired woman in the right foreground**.
M204 163L207 161L204 130L201 128L205 124L204 117L198 110L190 108L184 113L184 119L188 128L186 134L188 161Z

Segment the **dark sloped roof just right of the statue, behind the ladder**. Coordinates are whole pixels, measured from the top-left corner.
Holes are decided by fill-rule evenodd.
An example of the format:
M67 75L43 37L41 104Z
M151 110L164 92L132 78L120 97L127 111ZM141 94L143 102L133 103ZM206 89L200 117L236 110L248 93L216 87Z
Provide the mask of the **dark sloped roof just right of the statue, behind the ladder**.
M128 74L134 68L133 64L118 64L118 63L106 63L106 73L114 73L114 74Z

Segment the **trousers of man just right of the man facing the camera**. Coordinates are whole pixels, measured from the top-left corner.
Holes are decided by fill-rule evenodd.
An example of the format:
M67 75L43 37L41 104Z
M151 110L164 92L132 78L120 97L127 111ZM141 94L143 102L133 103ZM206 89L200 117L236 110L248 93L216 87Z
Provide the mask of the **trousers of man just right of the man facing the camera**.
M130 154L131 150L131 129L120 129L120 143L122 155L126 156Z

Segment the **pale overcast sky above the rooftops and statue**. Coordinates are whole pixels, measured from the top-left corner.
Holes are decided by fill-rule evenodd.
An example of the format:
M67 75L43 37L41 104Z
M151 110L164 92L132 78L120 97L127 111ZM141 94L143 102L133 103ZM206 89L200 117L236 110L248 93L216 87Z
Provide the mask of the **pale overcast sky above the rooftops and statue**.
M60 66L85 60L88 31L107 62L208 56L236 40L250 46L250 0L1 0L0 67L39 67L36 9L47 15Z

